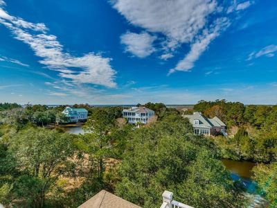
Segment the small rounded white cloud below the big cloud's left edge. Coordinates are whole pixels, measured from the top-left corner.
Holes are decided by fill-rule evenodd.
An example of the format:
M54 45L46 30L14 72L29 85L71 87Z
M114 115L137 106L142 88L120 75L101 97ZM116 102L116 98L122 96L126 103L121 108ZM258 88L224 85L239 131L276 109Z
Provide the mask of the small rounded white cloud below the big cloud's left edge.
M121 44L125 44L125 51L132 53L139 58L145 58L155 51L152 46L156 37L149 33L130 33L127 32L120 37Z

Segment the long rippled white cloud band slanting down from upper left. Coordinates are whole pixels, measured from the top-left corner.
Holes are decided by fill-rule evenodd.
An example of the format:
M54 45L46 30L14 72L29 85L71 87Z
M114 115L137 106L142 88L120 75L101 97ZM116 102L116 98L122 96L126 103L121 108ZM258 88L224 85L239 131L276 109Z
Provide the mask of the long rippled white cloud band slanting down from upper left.
M3 5L3 4L2 4ZM39 58L41 64L49 69L60 71L62 78L75 84L91 83L105 87L116 87L116 71L111 68L111 58L103 58L96 53L87 53L76 57L64 52L64 47L55 35L48 34L48 28L42 23L33 24L19 17L8 15L0 8L0 24L12 31L15 39L28 44ZM75 71L69 69L74 68Z

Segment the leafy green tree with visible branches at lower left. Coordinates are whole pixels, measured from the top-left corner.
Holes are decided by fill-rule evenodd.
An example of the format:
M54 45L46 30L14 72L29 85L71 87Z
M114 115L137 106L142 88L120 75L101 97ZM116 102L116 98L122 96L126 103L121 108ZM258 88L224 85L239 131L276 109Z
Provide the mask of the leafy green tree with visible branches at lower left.
M73 156L72 139L44 128L28 128L12 137L8 157L21 173L13 184L13 198L23 199L27 207L43 207L46 194L63 174L62 166Z

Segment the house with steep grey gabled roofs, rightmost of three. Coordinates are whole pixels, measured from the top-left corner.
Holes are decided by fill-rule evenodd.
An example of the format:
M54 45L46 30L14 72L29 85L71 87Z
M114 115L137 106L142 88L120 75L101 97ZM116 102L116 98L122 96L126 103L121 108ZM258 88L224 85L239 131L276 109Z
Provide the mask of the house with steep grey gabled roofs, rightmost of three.
M193 115L184 115L193 125L195 135L217 135L221 132L226 136L226 125L215 116L213 119L208 119L201 112L194 112Z

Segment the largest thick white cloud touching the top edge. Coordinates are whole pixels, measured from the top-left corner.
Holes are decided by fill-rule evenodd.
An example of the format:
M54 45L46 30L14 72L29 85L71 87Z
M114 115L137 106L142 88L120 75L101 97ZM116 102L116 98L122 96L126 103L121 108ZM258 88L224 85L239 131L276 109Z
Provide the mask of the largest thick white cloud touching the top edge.
M168 46L193 40L206 17L217 9L213 0L116 0L112 4L131 24L166 35ZM177 42L170 47L175 48Z

